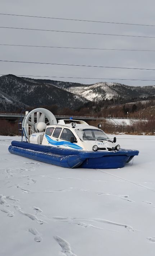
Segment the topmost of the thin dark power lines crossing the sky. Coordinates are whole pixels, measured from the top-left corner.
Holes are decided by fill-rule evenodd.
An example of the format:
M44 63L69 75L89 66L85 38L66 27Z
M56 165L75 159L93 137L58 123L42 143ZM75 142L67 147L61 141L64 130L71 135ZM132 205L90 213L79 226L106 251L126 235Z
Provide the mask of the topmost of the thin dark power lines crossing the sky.
M83 21L83 22L97 22L97 23L110 23L110 24L119 24L119 25L132 25L132 26L150 26L150 27L155 27L155 25L150 25L150 24L122 23L122 22L110 22L110 21L91 21L91 20L86 20L86 19L67 19L67 18L31 16L31 15L10 14L10 13L0 13L0 15L19 16L19 17L31 17L31 18L43 18L43 19L61 19L61 20L66 20L66 21Z

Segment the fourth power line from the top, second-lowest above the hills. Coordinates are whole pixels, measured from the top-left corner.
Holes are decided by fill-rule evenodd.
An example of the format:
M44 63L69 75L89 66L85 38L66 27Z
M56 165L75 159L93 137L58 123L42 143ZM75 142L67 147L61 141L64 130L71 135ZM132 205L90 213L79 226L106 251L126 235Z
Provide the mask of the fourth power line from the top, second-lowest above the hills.
M78 64L63 64L63 63L46 63L46 62L33 62L33 61L6 61L6 60L0 60L0 62L32 63L32 64L76 66L76 67L102 67L102 68L105 68L105 69L155 70L155 69L145 69L145 68L140 68L140 67L108 67L108 66L92 66L92 65L78 65Z

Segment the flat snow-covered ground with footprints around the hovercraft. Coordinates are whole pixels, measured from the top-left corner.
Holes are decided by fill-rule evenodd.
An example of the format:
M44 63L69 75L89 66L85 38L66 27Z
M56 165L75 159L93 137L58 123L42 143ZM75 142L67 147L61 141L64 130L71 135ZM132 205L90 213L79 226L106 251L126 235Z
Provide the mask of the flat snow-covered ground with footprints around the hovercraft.
M10 154L0 136L0 256L154 256L155 136L121 169L66 169Z

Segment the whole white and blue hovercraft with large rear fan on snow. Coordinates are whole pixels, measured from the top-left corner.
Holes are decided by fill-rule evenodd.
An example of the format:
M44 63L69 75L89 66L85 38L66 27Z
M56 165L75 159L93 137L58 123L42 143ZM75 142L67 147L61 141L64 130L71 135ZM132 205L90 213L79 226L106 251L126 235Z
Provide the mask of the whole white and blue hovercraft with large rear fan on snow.
M101 129L83 120L56 121L47 109L27 113L22 122L22 141L12 141L9 152L67 168L121 168L138 150L120 149ZM23 141L25 137L26 141Z

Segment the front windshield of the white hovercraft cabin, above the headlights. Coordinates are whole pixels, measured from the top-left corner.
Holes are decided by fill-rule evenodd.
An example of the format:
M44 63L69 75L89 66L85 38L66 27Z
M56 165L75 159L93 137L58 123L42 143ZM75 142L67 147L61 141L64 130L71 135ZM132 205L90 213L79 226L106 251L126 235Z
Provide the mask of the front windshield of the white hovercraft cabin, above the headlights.
M110 140L108 136L99 129L76 129L81 140Z

